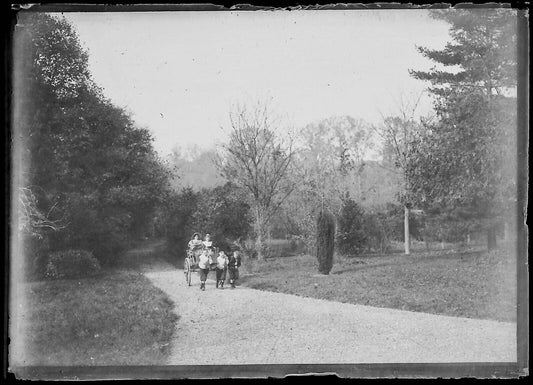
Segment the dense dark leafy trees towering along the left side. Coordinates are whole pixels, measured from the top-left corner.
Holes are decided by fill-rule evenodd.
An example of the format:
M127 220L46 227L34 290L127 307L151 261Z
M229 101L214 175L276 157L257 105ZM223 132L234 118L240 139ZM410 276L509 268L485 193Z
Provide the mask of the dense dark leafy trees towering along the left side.
M23 233L46 242L44 249L85 249L112 262L126 242L149 232L167 172L148 130L94 84L64 19L21 14L15 38L19 187L45 224L36 227L37 216L23 210L21 222L34 224Z

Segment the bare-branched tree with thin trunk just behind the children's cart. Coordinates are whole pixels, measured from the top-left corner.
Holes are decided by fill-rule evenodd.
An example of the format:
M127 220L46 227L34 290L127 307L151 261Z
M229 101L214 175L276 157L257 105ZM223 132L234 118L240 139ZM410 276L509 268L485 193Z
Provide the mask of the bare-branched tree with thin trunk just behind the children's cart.
M293 190L286 178L293 159L290 137L269 103L236 106L230 112L230 139L221 147L218 166L227 180L245 188L250 197L258 259L270 220Z

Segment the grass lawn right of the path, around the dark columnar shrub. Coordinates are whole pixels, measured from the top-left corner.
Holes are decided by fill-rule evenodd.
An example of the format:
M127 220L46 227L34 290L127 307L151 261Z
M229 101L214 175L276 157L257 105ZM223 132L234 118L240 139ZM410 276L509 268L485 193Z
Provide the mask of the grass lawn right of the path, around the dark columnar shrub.
M327 276L314 256L247 261L241 284L260 290L458 317L516 321L516 261L505 250L343 258Z

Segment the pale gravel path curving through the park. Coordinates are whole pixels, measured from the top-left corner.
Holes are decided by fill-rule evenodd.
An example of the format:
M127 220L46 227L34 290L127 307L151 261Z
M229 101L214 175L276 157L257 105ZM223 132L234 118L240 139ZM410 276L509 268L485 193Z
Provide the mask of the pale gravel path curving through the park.
M174 301L170 365L516 362L516 324L237 287L182 270L144 273ZM211 275L214 272L210 272Z

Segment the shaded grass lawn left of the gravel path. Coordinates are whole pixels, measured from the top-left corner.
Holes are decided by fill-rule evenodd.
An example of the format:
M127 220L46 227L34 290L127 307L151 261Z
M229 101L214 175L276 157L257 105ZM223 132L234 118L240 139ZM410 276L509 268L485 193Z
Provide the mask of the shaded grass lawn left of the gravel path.
M137 270L24 287L26 365L165 364L178 317Z

